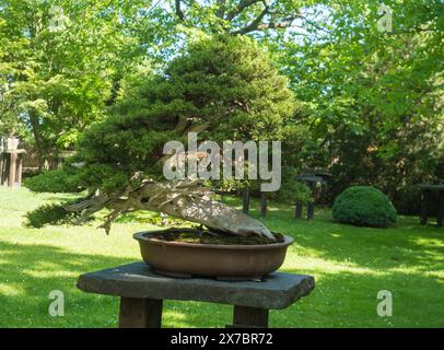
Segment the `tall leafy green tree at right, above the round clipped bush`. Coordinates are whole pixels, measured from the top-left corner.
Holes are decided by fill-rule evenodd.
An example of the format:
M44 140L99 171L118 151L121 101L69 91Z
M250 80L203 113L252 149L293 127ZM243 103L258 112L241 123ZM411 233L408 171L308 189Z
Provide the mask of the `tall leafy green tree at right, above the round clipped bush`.
M309 109L306 161L330 168L332 195L371 184L404 207L419 202L418 183L444 177L444 15L441 1L385 4L393 32L378 31L379 4L331 1L318 18L325 31L287 42L280 59Z

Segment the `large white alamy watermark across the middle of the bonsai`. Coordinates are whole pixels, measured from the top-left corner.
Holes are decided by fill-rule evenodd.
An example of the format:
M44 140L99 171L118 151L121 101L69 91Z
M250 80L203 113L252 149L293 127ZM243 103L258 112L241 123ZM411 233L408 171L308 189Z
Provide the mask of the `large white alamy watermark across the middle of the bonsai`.
M281 186L280 141L214 141L197 143L197 132L188 133L188 149L180 141L170 141L163 153L171 155L163 166L166 179L261 179L261 191L276 191ZM247 153L247 158L245 156ZM271 161L269 160L271 156ZM187 166L188 165L188 166ZM271 170L269 170L271 165ZM222 167L222 171L221 171ZM234 170L234 174L233 174Z

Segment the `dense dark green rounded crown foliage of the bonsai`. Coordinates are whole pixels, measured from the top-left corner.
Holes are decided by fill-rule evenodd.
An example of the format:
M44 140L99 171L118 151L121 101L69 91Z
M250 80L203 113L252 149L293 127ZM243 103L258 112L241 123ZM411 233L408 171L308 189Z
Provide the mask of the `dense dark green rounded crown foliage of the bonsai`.
M113 115L81 138L86 166L80 177L104 191L137 186L144 177L162 179L164 144L187 143L187 132L196 129L202 140L285 141L294 110L288 80L254 40L206 37L162 74L127 81Z

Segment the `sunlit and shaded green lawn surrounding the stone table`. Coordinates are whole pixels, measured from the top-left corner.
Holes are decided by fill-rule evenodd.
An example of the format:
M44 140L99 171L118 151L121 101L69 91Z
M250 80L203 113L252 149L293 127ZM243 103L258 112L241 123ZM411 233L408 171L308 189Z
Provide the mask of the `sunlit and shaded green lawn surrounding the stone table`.
M117 326L118 300L83 293L75 282L81 273L140 260L131 234L150 225L130 217L132 222L115 224L108 236L96 223L23 226L27 210L67 197L0 188L0 327ZM253 206L259 207L255 201ZM316 278L309 296L271 311L271 327L444 327L444 230L422 228L412 217L399 218L390 229L348 226L330 217L317 211L311 222L295 221L293 208L270 205L267 226L295 238L282 270ZM48 315L52 290L65 293L63 317ZM393 293L392 317L376 314L379 290ZM227 305L164 305L165 327L230 323Z

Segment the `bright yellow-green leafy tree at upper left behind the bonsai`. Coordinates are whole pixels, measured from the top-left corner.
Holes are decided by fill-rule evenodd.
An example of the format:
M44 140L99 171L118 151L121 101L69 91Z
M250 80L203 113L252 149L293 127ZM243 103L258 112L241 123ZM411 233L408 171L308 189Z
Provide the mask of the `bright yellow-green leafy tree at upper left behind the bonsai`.
M145 59L129 31L142 4L147 1L1 1L0 78L9 85L1 104L4 129L9 120L3 132L31 133L40 166L104 118L119 80Z

